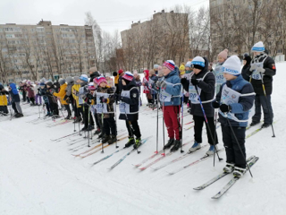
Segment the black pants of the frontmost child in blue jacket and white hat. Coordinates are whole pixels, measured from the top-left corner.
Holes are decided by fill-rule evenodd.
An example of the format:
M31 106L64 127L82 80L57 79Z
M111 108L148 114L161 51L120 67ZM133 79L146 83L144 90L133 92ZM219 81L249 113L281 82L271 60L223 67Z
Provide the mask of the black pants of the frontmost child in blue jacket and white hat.
M223 145L225 147L226 152L226 162L234 163L238 168L246 168L246 152L245 152L245 127L232 127L239 143L240 148L243 152L243 156L241 154L240 148L238 143L235 141L235 137L231 132L230 126L222 125L222 132L223 132Z

